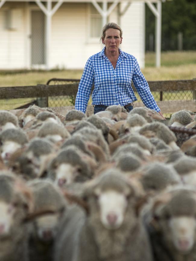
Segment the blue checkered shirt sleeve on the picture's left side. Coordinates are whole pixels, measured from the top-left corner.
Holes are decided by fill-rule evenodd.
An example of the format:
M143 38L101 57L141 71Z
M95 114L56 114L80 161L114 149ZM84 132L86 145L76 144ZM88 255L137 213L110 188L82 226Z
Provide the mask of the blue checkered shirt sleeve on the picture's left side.
M91 58L89 58L84 67L84 71L78 86L78 91L75 100L76 110L84 113L86 112L93 81L94 81L94 69L93 69Z

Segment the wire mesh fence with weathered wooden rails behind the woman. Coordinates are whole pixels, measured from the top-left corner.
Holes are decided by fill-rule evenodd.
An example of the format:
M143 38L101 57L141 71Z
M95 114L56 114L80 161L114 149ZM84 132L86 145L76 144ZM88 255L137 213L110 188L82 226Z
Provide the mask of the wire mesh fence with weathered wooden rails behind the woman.
M79 79L52 78L46 84L37 84L37 86L1 87L0 109L24 108L31 103L40 107L74 106L79 81ZM149 81L149 86L165 118L169 119L174 112L182 109L196 112L195 79ZM134 86L133 89L138 99L134 102L134 106L143 106ZM90 96L88 105L91 103Z

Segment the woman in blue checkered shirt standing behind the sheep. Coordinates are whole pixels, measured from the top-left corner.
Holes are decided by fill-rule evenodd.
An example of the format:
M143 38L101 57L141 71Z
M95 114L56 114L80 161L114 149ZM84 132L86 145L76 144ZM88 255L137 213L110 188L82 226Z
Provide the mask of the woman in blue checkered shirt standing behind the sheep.
M75 101L75 109L86 112L92 85L94 114L105 110L109 105L124 106L128 111L137 100L131 87L131 80L144 105L162 115L137 59L119 48L122 43L122 29L118 24L107 23L101 36L105 45L101 52L92 55L84 68ZM163 119L164 116L162 115Z

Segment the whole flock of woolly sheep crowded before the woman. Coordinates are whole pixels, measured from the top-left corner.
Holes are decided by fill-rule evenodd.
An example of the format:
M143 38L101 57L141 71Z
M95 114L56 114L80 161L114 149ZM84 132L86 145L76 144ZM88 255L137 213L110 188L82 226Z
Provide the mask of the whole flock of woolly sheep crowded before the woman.
M146 107L0 111L0 261L195 261L196 135L178 138Z

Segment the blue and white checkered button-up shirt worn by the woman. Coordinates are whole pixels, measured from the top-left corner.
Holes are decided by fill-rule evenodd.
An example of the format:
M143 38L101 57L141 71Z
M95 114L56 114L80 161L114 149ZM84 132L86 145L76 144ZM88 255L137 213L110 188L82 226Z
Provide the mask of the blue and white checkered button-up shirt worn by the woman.
M93 83L93 105L124 106L137 101L131 87L132 80L144 105L159 112L160 108L157 106L148 83L140 71L137 59L119 49L120 55L114 69L105 55L105 48L92 55L85 65L78 86L75 109L86 112Z

